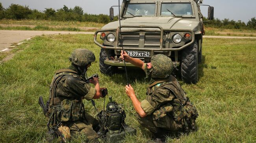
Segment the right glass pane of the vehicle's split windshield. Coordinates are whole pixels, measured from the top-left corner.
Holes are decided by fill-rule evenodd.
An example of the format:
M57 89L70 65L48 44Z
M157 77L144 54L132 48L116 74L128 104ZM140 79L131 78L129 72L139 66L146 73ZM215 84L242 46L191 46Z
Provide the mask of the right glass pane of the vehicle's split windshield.
M193 15L191 3L162 3L161 15L191 16Z

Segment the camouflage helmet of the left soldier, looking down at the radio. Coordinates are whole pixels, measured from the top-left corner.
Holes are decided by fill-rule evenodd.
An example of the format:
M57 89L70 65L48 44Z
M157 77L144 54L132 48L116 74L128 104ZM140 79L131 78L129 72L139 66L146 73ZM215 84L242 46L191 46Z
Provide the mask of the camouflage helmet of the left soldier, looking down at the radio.
M87 49L75 49L69 57L70 62L78 66L86 66L95 61L95 55Z

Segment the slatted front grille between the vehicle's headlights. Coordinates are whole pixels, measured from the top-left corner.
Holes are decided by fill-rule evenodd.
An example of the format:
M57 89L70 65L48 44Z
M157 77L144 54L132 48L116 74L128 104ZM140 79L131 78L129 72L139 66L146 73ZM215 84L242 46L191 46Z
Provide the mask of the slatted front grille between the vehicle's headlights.
M143 33L122 33L122 39L119 36L119 47L121 47L121 43L123 43L124 48L138 48L139 40L141 38L141 43L144 44L144 48L147 49L160 49L160 33L153 32L143 32ZM122 41L121 41L122 40ZM142 41L143 40L143 41ZM163 44L165 44L166 35L163 35Z

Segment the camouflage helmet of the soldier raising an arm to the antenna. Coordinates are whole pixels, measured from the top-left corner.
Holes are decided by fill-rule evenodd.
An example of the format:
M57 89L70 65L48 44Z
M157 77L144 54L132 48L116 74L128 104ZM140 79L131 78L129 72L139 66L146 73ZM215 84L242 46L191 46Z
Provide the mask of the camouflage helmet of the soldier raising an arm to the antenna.
M153 69L151 78L168 78L173 72L172 60L163 54L152 56L151 65Z

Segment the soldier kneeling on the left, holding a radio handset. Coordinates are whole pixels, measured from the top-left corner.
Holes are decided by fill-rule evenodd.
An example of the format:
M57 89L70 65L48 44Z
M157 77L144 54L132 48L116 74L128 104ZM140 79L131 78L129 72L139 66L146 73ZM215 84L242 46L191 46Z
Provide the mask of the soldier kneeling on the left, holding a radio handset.
M98 78L90 80L91 87L84 78L87 69L95 61L93 52L76 49L69 58L71 65L67 69L55 72L50 85L49 107L46 116L50 127L58 126L65 138L73 133L82 133L91 142L98 142L98 121L85 112L82 99L98 99L101 89Z

